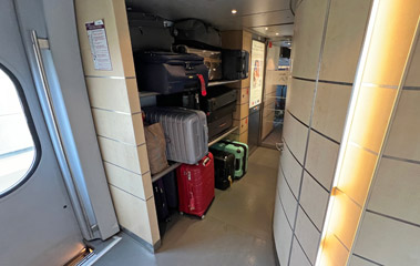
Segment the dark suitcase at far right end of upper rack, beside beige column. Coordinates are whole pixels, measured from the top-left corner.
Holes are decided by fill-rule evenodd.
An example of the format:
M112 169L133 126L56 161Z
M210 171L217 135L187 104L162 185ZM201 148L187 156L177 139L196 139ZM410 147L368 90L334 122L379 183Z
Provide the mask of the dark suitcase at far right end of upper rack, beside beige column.
M223 50L222 71L225 80L243 80L249 74L249 53L244 50Z

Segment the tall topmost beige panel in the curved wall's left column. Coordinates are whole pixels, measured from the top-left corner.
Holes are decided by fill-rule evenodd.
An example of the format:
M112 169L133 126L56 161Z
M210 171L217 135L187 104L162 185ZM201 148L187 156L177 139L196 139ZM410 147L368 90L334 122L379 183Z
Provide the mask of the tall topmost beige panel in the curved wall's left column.
M327 0L303 1L297 9L291 49L293 76L315 80Z

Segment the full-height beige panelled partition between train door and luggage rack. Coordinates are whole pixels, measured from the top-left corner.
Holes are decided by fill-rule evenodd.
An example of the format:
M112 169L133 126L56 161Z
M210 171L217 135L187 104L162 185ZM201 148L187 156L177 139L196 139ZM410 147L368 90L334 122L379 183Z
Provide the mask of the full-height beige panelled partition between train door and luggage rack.
M79 42L98 140L119 224L152 250L156 211L125 2L76 0ZM85 23L105 25L111 70L95 70Z

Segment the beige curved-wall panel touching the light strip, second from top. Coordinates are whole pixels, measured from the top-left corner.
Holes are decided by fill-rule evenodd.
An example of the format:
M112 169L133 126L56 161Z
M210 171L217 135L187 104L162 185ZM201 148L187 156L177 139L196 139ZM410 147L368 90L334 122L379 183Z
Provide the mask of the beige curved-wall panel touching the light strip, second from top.
M315 100L313 127L341 142L351 86L319 83Z

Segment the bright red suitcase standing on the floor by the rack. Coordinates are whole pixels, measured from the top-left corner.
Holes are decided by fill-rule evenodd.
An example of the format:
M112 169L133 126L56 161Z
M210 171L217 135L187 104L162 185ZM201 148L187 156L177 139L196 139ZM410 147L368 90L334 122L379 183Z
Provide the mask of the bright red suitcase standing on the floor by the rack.
M208 153L197 164L182 164L176 170L180 212L204 218L214 198L214 161Z

